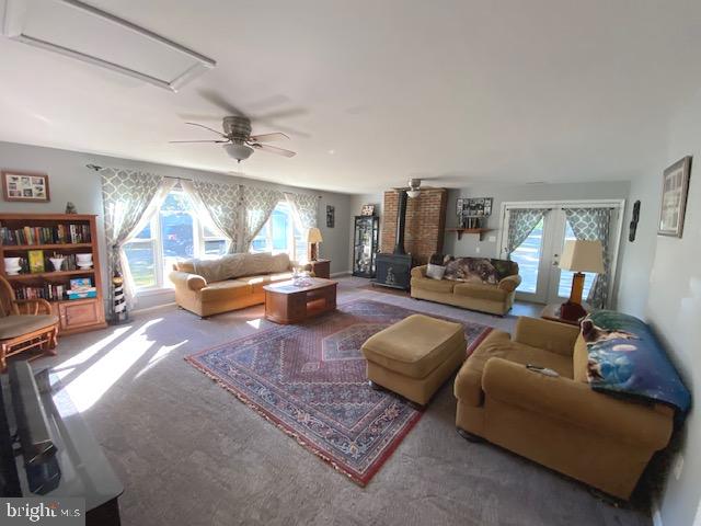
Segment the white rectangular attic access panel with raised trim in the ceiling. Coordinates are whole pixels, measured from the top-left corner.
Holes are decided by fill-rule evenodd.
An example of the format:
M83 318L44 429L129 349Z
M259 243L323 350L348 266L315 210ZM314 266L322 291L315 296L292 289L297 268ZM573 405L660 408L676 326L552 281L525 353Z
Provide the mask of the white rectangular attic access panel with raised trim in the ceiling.
M4 36L177 91L216 62L78 0L0 0Z

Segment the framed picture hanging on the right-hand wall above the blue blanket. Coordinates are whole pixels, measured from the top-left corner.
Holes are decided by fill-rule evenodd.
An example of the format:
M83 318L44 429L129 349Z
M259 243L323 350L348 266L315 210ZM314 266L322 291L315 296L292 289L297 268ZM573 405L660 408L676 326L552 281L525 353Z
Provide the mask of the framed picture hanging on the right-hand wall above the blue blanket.
M667 168L662 178L662 207L659 210L659 236L681 237L683 216L689 193L691 157L687 156Z

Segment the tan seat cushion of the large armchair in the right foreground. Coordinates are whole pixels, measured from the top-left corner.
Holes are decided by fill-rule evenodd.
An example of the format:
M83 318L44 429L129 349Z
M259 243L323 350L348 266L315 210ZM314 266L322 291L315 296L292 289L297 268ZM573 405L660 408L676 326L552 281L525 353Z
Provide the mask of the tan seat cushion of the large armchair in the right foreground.
M516 343L508 333L492 331L467 359L456 378L455 392L460 400L470 405L482 404L482 371L493 357L508 359L521 365L538 365L556 370L561 376L572 378L572 358L541 348Z

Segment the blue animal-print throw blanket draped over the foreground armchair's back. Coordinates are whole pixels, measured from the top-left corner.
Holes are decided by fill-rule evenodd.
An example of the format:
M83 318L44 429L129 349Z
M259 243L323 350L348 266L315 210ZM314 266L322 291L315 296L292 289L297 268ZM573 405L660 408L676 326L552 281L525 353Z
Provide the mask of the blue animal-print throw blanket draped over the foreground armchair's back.
M601 310L582 321L582 335L594 390L663 402L682 414L689 410L691 395L646 323Z

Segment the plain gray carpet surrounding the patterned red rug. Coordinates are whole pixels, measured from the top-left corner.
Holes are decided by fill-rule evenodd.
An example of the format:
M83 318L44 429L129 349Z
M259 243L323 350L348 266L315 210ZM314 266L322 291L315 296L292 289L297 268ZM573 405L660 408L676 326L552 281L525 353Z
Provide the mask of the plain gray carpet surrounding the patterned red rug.
M510 330L514 318L361 289L366 297ZM526 309L526 307L522 307ZM263 308L214 317L165 307L64 338L64 384L126 488L125 525L648 525L587 489L455 432L451 382L367 488L331 469L183 357L265 329Z

